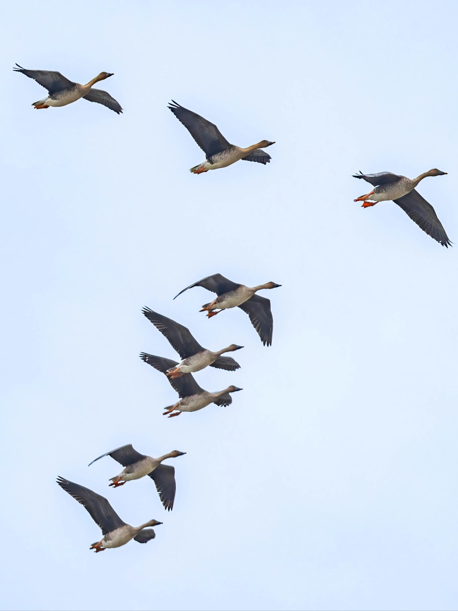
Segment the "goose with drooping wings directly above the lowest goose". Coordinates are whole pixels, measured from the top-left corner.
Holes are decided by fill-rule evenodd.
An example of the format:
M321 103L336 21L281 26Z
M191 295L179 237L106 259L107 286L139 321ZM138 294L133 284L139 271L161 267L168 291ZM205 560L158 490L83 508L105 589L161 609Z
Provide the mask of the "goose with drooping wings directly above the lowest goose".
M116 450L111 450L111 452L106 452L102 454L102 456L98 456L92 463L95 463L95 461L104 456L111 456L111 458L114 458L119 464L122 464L124 469L120 474L110 478L111 484L109 484L109 486L113 486L113 488L122 486L126 481L139 480L141 477L149 475L156 485L164 509L170 511L173 508L175 499L175 467L161 463L167 458L177 458L177 456L183 456L184 454L186 454L186 452L173 450L159 458L152 458L151 456L140 454L134 450L132 444L128 444L121 445L121 447L116 448ZM92 463L89 463L88 467L90 467Z

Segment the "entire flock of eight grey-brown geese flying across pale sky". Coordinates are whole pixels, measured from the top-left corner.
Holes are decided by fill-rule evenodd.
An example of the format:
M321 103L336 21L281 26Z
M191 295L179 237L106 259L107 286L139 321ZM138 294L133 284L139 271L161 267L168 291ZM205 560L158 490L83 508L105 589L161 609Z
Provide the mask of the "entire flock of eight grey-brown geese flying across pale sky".
M60 72L51 70L27 70L16 64L13 70L34 79L42 87L48 90L48 95L42 100L32 104L35 109L67 106L80 98L90 102L103 104L118 115L122 114L122 106L108 92L102 89L94 89L94 85L110 76L111 72L100 72L90 79L86 84L73 82L63 76ZM205 153L205 161L197 166L191 167L193 174L203 174L209 170L216 170L234 164L236 161L254 161L266 165L270 163L271 156L263 149L275 144L273 141L262 140L246 148L230 144L221 134L214 123L204 119L196 112L180 106L171 101L168 108L189 131L194 141ZM393 201L414 221L424 232L431 236L442 246L448 248L452 243L439 221L434 208L416 191L416 186L426 177L443 176L446 172L432 169L420 174L414 179L391 172L379 172L378 174L354 174L354 178L362 178L372 185L374 189L369 193L357 197L355 202L362 202L363 208L374 206L378 202ZM205 312L207 318L212 318L223 310L239 307L249 316L249 320L260 337L264 346L271 346L273 334L273 316L271 313L270 299L257 295L258 291L270 290L281 287L275 282L265 282L256 287L247 287L244 284L232 282L221 274L207 276L198 282L183 288L178 295L182 295L189 288L202 287L216 294L216 298L202 305L200 312ZM178 416L182 412L195 412L214 403L218 406L228 406L232 403L232 394L243 390L231 384L224 389L210 392L199 386L194 379L193 373L203 370L205 367L215 367L234 372L240 368L238 362L231 356L223 356L243 348L237 343L232 343L226 348L210 350L204 348L194 338L189 329L171 318L164 316L144 307L142 313L146 318L166 337L172 348L180 356L180 362L155 356L146 352L140 353L140 358L151 365L157 371L163 373L179 395L179 400L164 408L163 415L169 418ZM229 322L230 316L227 315ZM219 319L218 319L219 320ZM167 454L152 458L137 452L131 444L122 445L115 450L106 452L95 458L89 466L105 456L111 456L122 467L122 471L111 477L109 484L112 488L118 488L131 480L138 480L148 475L155 483L160 502L164 510L171 511L175 500L175 469L164 461L185 455L186 452L172 450ZM96 492L85 488L77 483L58 477L57 483L65 492L76 499L90 514L94 522L102 530L100 541L93 543L90 549L96 553L110 547L120 547L135 540L138 543L147 543L155 538L155 532L151 528L162 524L156 519L151 519L138 527L131 526L122 521L114 511L108 500Z

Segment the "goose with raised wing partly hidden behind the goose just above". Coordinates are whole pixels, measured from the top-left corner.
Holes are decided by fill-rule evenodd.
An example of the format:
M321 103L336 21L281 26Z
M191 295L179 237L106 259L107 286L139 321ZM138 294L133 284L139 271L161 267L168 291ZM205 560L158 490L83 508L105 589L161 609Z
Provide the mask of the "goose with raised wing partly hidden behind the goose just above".
M140 353L140 358L144 360L148 365L151 365L158 371L165 373L169 369L174 368L178 365L174 360L163 359L160 356L154 356L154 354L148 354L146 352ZM177 391L180 401L169 405L164 408L163 415L170 414L169 418L173 416L179 416L181 412L196 412L198 409L205 408L210 403L215 405L227 406L232 403L232 397L229 393L237 392L237 390L243 390L237 388L237 386L228 386L224 390L219 392L209 392L199 386L196 380L193 378L191 373L185 373L185 375L179 378L168 378L171 386ZM172 411L177 410L174 414Z

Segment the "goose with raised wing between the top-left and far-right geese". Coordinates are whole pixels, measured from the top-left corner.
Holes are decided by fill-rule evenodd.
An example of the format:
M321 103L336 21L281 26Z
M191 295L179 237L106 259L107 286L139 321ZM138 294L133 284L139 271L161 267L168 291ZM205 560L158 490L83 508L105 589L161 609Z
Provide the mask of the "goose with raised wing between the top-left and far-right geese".
M205 153L206 160L199 163L198 166L191 167L190 172L193 172L193 174L202 174L202 172L230 166L239 159L257 161L258 163L264 163L264 165L270 163L271 156L261 150L260 147L270 147L275 142L261 140L251 147L240 148L235 144L229 144L216 125L196 114L196 112L188 111L187 108L183 108L174 100L167 108L183 123Z

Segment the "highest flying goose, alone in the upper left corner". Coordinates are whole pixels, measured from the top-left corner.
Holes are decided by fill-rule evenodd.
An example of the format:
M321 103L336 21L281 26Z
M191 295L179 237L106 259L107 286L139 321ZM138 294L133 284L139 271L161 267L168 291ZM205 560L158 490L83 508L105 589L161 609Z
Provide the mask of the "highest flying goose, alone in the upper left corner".
M92 85L95 85L98 81L103 81L109 76L113 76L113 72L101 72L95 76L86 85L80 85L79 82L69 81L68 78L61 75L60 72L54 72L51 70L26 70L19 64L16 64L17 68L13 68L16 72L21 72L23 75L37 81L42 87L48 90L48 97L43 98L34 102L32 106L35 109L39 108L50 108L50 106L67 106L72 102L76 102L79 98L88 100L90 102L97 102L103 104L107 108L119 114L122 113L122 108L114 98L109 95L103 89L92 89Z

